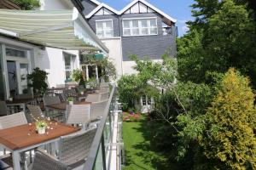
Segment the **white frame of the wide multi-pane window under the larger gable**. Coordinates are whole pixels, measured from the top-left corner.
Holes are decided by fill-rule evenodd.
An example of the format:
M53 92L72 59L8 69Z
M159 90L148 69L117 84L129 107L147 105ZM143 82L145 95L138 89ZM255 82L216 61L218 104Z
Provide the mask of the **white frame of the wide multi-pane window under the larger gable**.
M150 26L150 20L154 19L156 22L156 26ZM125 22L124 20L130 20L130 28L125 28ZM139 28L139 35L133 35L132 34L132 30L135 27L132 27L132 20L138 20L138 28ZM142 33L142 29L146 28L142 26L142 22L141 20L147 20L147 25L148 25L148 34L147 35L143 35ZM123 37L137 37L137 36L156 36L158 35L158 20L157 17L146 17L146 18L127 18L127 19L122 19L122 27L123 27ZM155 34L151 34L150 29L151 28L156 28L156 33ZM130 35L125 35L125 30L130 30Z

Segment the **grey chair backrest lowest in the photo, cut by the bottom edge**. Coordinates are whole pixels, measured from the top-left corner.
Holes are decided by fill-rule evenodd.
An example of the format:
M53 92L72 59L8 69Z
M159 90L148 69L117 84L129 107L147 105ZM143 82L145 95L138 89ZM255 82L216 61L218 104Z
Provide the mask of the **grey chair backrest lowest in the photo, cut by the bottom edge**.
M64 165L52 156L46 153L36 151L35 158L32 164L32 170L58 169L67 170L67 165Z

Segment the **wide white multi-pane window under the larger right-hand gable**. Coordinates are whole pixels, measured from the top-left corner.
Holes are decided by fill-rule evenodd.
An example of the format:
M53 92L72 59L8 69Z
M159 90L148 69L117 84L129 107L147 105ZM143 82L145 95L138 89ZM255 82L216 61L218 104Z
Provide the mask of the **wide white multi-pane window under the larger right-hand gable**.
M157 20L156 18L123 20L123 34L124 36L157 35Z

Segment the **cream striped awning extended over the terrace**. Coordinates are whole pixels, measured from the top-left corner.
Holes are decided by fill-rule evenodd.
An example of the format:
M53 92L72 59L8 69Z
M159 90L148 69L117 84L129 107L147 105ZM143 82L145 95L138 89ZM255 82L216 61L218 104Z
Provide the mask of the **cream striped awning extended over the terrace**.
M0 9L0 33L46 47L74 50L95 47L108 54L108 48L76 8L53 11Z

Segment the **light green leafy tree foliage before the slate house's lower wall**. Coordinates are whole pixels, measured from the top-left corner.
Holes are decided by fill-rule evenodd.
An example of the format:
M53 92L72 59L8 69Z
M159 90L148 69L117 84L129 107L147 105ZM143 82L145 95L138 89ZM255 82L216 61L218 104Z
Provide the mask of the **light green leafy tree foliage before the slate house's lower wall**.
M146 94L155 99L160 88L172 87L177 77L177 62L168 53L162 56L163 62L153 62L149 59L140 60L132 55L136 62L136 75L123 76L119 79L119 99L124 111L135 107L136 101Z

